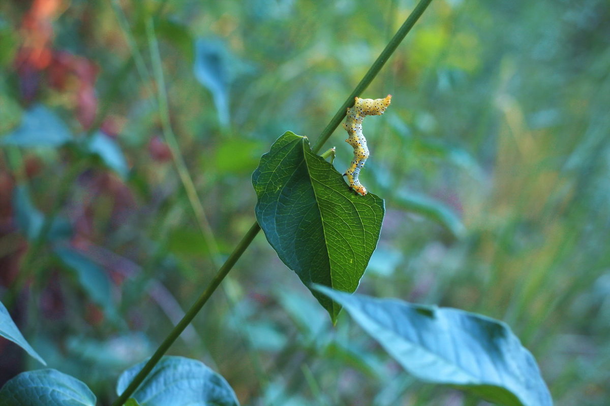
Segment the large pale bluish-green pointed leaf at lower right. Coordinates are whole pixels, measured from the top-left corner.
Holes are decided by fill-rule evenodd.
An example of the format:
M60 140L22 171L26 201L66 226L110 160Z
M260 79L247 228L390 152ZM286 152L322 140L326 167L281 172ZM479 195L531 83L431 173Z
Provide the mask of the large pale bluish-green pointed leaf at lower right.
M409 373L454 385L508 406L547 406L553 401L536 360L506 324L448 307L349 295L316 286Z

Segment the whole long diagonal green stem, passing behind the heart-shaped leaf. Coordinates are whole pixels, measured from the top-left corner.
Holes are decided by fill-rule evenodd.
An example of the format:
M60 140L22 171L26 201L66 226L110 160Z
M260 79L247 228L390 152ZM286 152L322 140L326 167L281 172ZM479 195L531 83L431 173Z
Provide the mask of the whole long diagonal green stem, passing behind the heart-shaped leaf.
M381 68L385 65L386 61L392 55L392 53L398 47L398 44L404 39L409 30L414 26L415 22L422 16L426 7L430 4L432 0L420 0L417 4L411 15L406 19L404 24L398 29L398 32L394 35L392 40L387 44L386 48L381 52L377 60L373 63L370 69L368 69L367 74L361 80L360 83L356 86L354 91L351 93L350 97L343 103L343 105L339 108L337 113L332 117L331 122L326 125L326 128L320 134L320 138L318 142L315 144L312 149L314 153L317 153L322 145L328 140L331 136L332 131L334 131L343 120L345 116L345 111L348 107L353 105L354 97L367 88L367 86L375 79L375 76L381 71ZM254 223L251 228L248 230L248 233L242 238L242 240L237 244L235 250L229 255L228 259L224 262L223 266L220 267L218 273L214 276L210 284L206 287L201 296L197 299L197 301L193 304L193 306L188 309L187 313L184 315L181 321L171 330L170 334L163 340L159 348L152 354L152 357L146 362L144 367L138 372L138 374L131 381L129 386L120 394L120 396L112 403L112 406L122 406L129 397L137 390L140 384L144 381L146 376L152 371L155 365L159 362L159 360L163 357L165 352L170 348L170 346L178 339L182 331L190 324L190 322L195 318L199 310L201 310L206 304L207 300L212 296L212 293L218 288L223 279L228 275L229 271L233 268L237 260L242 256L243 252L248 248L250 243L254 240L254 237L259 233L260 226L258 223Z

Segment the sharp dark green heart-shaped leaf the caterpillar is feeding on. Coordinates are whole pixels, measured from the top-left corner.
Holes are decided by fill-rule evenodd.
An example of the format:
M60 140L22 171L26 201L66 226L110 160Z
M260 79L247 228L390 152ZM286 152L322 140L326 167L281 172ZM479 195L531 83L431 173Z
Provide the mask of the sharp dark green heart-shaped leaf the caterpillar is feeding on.
M384 201L357 195L306 137L290 131L262 156L252 182L256 219L284 264L307 287L354 292L379 240ZM335 321L341 306L312 293Z

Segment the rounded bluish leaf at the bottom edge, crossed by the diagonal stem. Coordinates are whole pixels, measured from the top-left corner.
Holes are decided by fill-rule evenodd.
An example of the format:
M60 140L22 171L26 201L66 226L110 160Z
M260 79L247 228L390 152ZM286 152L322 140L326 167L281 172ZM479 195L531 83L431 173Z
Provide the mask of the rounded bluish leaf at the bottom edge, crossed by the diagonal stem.
M121 374L117 394L123 393L145 363ZM163 357L132 397L142 406L239 406L222 376L204 363L184 357Z

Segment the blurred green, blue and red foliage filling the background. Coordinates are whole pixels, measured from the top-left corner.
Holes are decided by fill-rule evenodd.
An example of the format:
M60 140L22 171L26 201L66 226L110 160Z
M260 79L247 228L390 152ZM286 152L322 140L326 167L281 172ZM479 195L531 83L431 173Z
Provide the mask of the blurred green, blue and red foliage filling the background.
M315 140L412 7L1 2L0 298L49 366L109 404L253 222L260 155ZM359 291L506 321L558 405L610 399L608 21L606 0L435 0L362 95L393 98L365 128L387 214ZM478 404L340 319L260 235L170 352L243 405ZM40 366L0 354L0 383Z

